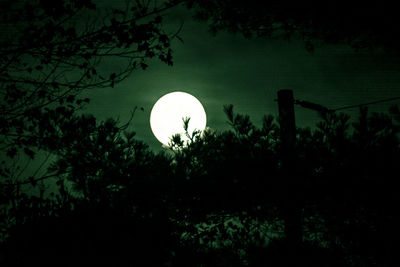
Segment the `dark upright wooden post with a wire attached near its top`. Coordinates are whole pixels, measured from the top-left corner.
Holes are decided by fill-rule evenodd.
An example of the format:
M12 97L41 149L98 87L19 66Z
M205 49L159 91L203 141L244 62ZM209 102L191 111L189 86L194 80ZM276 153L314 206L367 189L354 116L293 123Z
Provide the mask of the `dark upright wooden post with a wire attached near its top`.
M294 97L292 90L278 91L279 123L282 142L282 179L286 187L283 205L285 235L288 245L289 261L299 262L302 243L301 186L296 177L296 123L294 115Z

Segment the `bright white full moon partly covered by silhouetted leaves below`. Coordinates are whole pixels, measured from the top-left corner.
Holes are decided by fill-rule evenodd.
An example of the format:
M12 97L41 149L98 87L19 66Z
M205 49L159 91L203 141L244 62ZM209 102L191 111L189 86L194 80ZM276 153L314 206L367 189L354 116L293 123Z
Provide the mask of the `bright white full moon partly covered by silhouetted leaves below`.
M151 130L158 141L166 146L175 134L180 134L186 142L188 138L183 128L185 118L190 118L189 134L194 130L203 131L206 127L206 112L197 98L184 92L166 94L157 100L151 110Z

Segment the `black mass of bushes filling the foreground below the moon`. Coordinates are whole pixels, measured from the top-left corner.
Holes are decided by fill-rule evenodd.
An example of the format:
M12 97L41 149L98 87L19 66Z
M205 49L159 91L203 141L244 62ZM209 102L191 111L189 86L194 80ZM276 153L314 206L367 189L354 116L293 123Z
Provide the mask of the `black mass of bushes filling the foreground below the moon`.
M3 264L394 266L398 109L298 128L290 178L274 119L225 112L232 130L159 154L113 120L66 120L56 190L2 175ZM301 215L296 251L287 209Z

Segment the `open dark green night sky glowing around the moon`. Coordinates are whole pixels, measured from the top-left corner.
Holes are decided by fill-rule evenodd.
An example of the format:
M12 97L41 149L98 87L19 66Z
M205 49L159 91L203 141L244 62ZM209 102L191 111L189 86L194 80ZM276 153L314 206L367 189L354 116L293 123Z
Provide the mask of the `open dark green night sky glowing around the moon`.
M159 151L161 144L150 129L150 111L158 98L172 91L198 98L207 113L207 126L216 130L229 127L222 110L226 104L250 115L256 125L265 114L277 116L275 99L280 89L292 89L295 99L331 109L400 96L398 57L339 46L318 47L311 54L296 40L245 39L225 32L212 36L206 23L191 16L178 8L165 18L171 33L184 22L180 32L184 43L172 42L172 67L152 60L147 70L134 72L115 88L85 92L91 98L85 112L124 123L135 106L143 107L144 111L137 110L131 129ZM108 65L110 71L114 67L118 63ZM395 103L371 105L369 110L387 111ZM298 126L313 127L319 119L314 111L301 107L295 111ZM358 109L344 112L354 118Z

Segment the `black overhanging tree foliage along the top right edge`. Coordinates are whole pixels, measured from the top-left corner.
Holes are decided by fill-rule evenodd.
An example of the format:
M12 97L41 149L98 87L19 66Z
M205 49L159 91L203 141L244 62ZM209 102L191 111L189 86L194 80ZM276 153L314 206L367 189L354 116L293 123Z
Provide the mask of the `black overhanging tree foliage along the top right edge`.
M399 18L390 1L186 1L210 30L245 37L302 39L309 51L320 43L399 52Z

